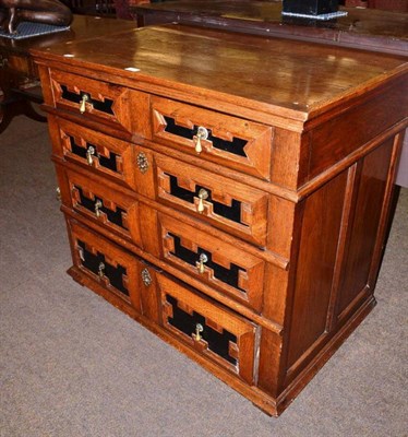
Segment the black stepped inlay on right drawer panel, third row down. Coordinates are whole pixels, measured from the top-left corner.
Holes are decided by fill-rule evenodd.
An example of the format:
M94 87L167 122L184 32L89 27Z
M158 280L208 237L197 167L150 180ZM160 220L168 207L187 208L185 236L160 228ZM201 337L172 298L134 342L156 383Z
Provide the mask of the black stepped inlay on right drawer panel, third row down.
M202 249L201 247L199 247L197 253L193 252L181 245L180 237L178 237L177 235L171 234L171 233L168 233L168 235L175 241L175 251L171 252L175 257L185 261L190 265L195 267L196 261L199 261L200 255L204 253L204 255L206 255L206 257L208 259L205 262L205 265L214 271L214 277L216 277L217 280L219 280L228 285L233 286L237 290L240 290L243 293L247 293L244 290L242 290L241 287L238 286L239 271L241 270L244 272L244 269L242 269L241 267L239 267L237 264L231 263L230 269L228 270L225 267L219 265L213 261L212 252L209 252L205 249Z

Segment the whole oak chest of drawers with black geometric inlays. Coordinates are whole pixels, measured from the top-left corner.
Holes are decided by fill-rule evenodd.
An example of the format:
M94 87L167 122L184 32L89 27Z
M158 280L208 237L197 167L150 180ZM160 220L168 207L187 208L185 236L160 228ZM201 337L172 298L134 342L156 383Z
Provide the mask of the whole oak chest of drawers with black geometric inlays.
M375 304L406 59L172 25L33 56L69 273L279 414Z

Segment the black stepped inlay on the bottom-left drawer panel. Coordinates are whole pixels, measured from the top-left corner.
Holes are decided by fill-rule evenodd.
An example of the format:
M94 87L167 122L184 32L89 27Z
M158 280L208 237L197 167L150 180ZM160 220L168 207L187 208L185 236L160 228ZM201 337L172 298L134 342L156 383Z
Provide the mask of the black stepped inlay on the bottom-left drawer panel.
M118 264L118 267L109 264L105 261L105 256L103 253L98 252L94 255L86 250L85 243L80 239L76 241L82 249L82 265L97 275L99 273L99 264L103 262L105 264L104 275L109 279L110 284L119 292L129 296L129 292L123 284L123 275L127 274L127 269L120 264Z

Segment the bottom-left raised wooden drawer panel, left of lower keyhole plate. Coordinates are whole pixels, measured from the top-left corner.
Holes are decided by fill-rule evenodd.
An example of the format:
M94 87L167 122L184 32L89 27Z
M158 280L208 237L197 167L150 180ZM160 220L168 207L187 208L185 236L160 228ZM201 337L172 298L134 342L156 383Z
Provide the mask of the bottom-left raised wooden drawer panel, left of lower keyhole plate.
M140 261L74 221L69 228L74 265L141 311Z

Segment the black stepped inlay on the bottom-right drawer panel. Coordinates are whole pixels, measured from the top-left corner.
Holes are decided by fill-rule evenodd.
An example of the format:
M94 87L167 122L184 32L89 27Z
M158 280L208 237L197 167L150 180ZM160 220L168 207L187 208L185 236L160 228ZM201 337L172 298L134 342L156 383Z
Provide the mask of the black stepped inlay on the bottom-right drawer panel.
M183 332L185 335L191 336L195 332L195 326L200 323L204 330L202 332L203 340L208 343L208 349L215 354L219 355L232 365L237 365L238 361L229 355L229 342L237 344L237 336L232 333L223 330L221 333L215 331L213 328L205 324L205 317L199 312L193 311L192 315L183 311L178 307L176 297L166 294L166 300L172 307L172 318L168 318L168 322Z

